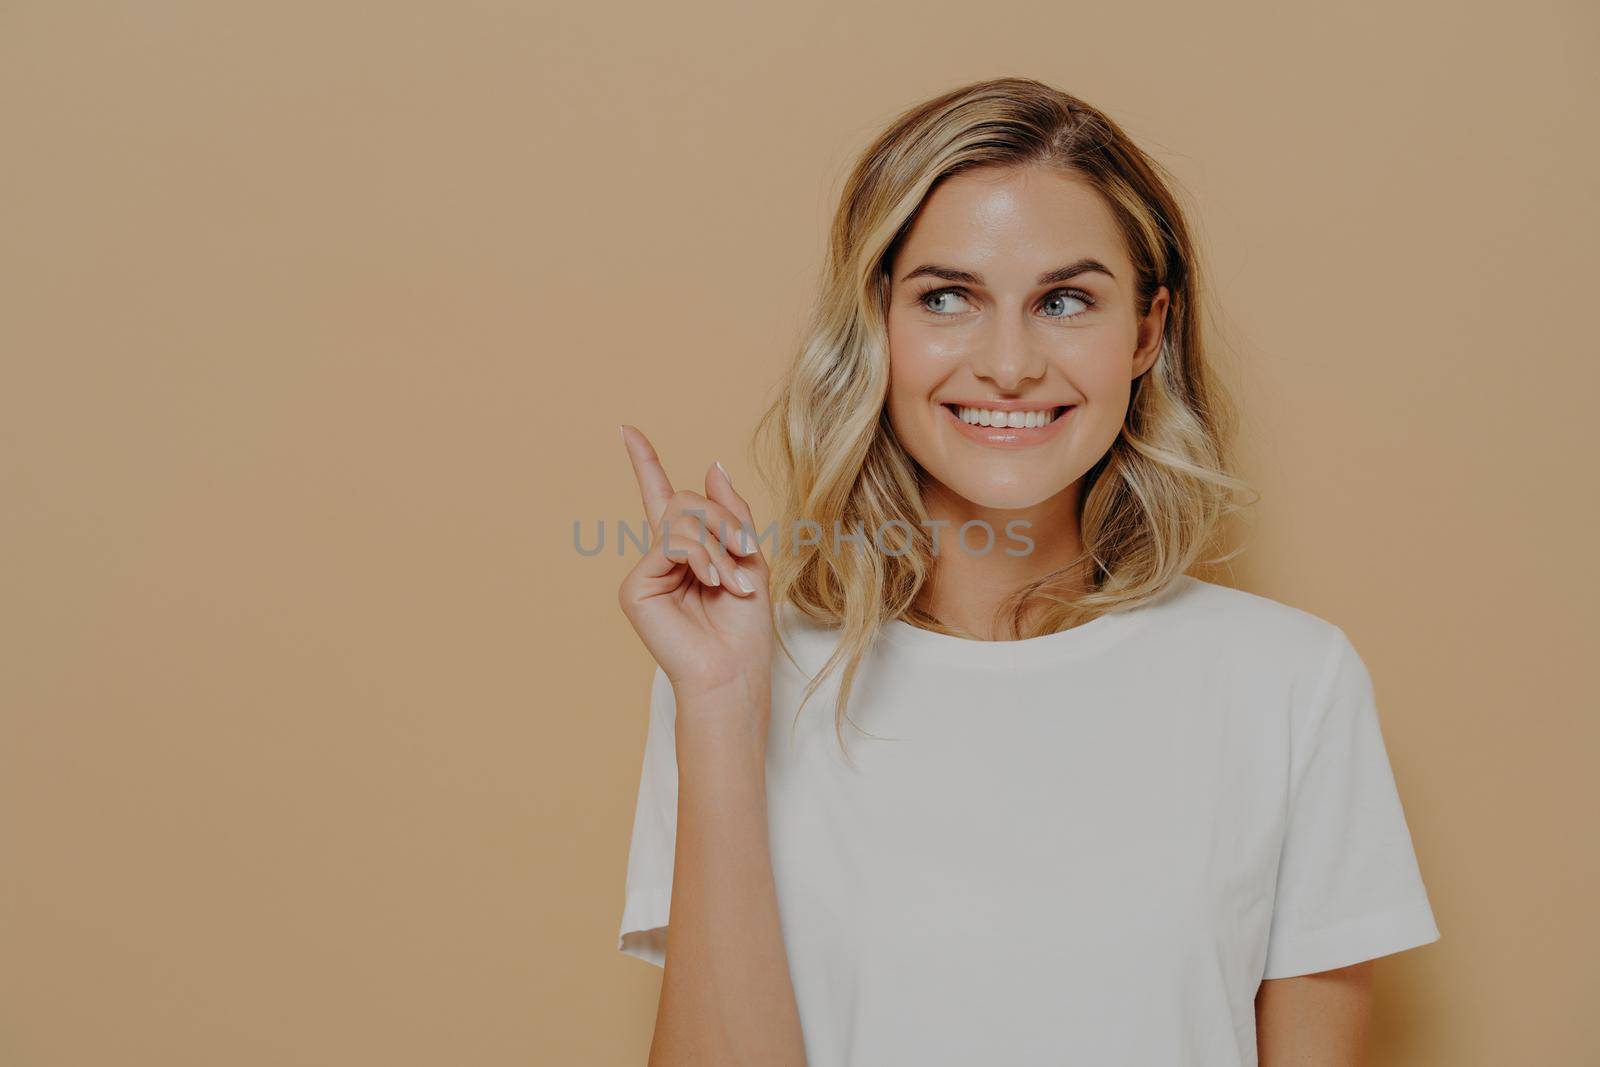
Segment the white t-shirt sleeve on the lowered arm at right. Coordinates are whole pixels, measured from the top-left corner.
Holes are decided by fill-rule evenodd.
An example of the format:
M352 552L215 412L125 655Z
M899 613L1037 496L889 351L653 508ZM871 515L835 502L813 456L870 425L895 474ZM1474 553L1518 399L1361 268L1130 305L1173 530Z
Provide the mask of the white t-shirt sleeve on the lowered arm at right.
M1438 941L1371 677L1344 630L1333 645L1307 744L1291 757L1264 979Z

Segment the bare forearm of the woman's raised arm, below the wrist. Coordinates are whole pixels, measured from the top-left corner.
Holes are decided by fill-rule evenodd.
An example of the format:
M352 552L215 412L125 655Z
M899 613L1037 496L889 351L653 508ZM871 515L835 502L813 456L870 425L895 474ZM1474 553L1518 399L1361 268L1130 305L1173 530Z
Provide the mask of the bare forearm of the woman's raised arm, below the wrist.
M766 829L770 699L760 685L680 697L678 829L651 1067L805 1064Z

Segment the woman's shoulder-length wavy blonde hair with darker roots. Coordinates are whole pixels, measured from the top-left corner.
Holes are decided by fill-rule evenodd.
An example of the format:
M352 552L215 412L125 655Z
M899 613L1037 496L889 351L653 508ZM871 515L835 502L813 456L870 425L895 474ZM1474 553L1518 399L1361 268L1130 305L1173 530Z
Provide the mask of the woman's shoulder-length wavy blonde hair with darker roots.
M1027 165L1070 173L1104 195L1133 261L1141 317L1158 286L1171 302L1160 355L1134 379L1122 432L1085 475L1083 553L1011 593L997 624L1018 638L1038 637L1141 605L1200 561L1227 515L1256 502L1237 501L1258 494L1230 474L1237 408L1202 341L1198 258L1170 173L1106 114L1030 78L976 82L912 107L846 179L802 344L757 427L757 462L778 490L774 630L790 661L784 605L840 630L800 702L843 665L834 721L840 745L851 685L885 621L971 637L917 606L936 557L923 525L920 466L896 440L885 408L890 264L938 182L976 166ZM893 553L853 541L845 541L848 550L827 550L795 537L797 525L811 523L902 536ZM1090 592L1080 593L1086 573Z

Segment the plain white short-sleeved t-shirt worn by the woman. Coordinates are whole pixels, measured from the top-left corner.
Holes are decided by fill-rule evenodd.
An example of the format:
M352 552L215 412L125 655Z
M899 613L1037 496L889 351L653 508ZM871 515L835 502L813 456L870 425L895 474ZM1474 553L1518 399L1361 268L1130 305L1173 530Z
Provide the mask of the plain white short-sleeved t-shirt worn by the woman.
M837 632L786 609L805 670ZM806 677L808 677L806 675ZM891 622L835 670L779 651L778 907L811 1067L1254 1067L1264 977L1438 939L1346 633L1182 577L1021 641ZM666 961L675 704L658 669L618 947Z

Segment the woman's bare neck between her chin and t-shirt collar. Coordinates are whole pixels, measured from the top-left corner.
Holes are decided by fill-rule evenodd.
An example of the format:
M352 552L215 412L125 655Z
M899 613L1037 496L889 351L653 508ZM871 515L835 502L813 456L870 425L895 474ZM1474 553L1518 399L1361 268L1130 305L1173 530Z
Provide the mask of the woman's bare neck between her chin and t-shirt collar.
M930 482L923 506L939 531L939 555L933 574L923 585L917 605L947 625L960 627L986 641L1003 640L997 633L995 611L1013 592L1053 571L1066 568L1080 552L1078 496L1083 482L1032 507L982 507ZM987 523L960 536L963 523ZM1014 533L1006 533L1006 523ZM1027 525L1022 525L1027 523ZM994 547L989 544L994 531ZM1032 541L1029 547L1027 541ZM1008 552L1010 550L1010 552ZM1026 552L1024 555L1011 555ZM981 555L979 555L981 553ZM1086 565L1080 565L1074 593L1088 589Z

